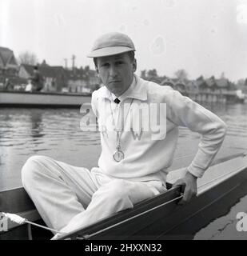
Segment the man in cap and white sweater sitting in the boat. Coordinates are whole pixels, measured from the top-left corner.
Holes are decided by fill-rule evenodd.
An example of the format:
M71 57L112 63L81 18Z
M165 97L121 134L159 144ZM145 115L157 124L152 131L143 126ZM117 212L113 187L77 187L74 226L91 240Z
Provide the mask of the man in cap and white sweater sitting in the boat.
M102 127L98 167L88 170L46 156L33 156L23 166L23 186L47 226L70 232L165 191L178 126L201 134L197 154L185 176L174 184L185 184L182 204L197 194L197 178L217 154L225 138L225 123L171 87L134 74L134 52L135 46L127 35L110 33L98 38L88 55L94 58L104 84L92 95L92 110ZM135 115L140 104L153 103L162 106L160 133L144 130L142 126L139 130L132 126L126 129L128 116L139 120ZM126 111L119 118L123 109ZM147 118L153 117L153 113ZM157 123L155 118L150 120Z

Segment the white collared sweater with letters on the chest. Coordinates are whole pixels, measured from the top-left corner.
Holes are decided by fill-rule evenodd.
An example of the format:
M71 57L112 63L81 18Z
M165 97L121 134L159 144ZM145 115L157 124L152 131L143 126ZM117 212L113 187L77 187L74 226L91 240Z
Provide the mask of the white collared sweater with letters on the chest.
M178 91L172 90L169 86L159 86L136 75L133 80L136 82L133 81L129 89L119 97L121 102L118 105L113 102L106 86L94 91L92 95L92 109L98 118L100 127L102 127L101 124L113 122L113 117L116 123L119 110L123 109L124 103L130 104L133 99L129 114L125 118L124 128L126 127L125 130L127 131L124 130L121 136L121 150L124 152L125 158L121 162L114 160L113 154L118 145L117 133L112 129L115 127L113 123L111 123L111 127L106 124L105 130L101 131L102 154L98 160L98 170L94 171L112 178L124 178L132 181L161 180L165 182L167 169L173 162L178 126L187 126L190 130L201 134L197 154L188 166L189 172L200 178L213 161L225 138L225 122L203 106L182 96ZM140 104L150 106L154 103L163 103L158 113L161 117L160 123L163 124L161 132L153 134L151 129L143 129L145 131L141 133L140 128L134 134L141 134L141 136L134 138L133 132L127 129L131 111L135 113ZM125 116L127 112L125 111ZM152 111L150 113L152 118L153 113ZM135 114L133 117L136 121ZM146 120L150 119L148 115L143 117ZM133 126L129 125L128 127Z

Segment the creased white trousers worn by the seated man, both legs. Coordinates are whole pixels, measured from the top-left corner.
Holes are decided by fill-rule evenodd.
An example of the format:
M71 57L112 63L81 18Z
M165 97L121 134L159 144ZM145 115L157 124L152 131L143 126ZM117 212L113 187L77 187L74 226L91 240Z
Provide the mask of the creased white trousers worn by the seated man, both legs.
M46 225L70 232L89 226L165 190L162 182L109 178L93 168L33 156L22 167L22 183Z

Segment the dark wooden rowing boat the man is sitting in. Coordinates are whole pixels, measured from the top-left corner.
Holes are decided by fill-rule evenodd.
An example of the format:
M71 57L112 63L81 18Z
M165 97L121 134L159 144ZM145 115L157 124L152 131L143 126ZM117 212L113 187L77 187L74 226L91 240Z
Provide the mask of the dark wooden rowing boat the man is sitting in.
M201 228L225 215L229 207L247 194L247 155L217 161L197 182L198 194L185 206L177 206L181 188L171 184L185 174L174 170L167 177L169 190L138 203L93 225L75 230L59 239L192 239ZM23 188L0 192L0 211L17 213L32 222L42 223L34 204ZM49 239L50 231L32 227L34 239ZM8 222L0 239L28 239L30 226Z

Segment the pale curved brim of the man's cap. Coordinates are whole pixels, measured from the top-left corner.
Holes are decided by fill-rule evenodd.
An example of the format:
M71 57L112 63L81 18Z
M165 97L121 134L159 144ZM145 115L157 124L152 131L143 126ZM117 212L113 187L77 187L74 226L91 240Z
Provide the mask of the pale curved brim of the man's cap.
M89 58L98 58L98 57L106 57L116 54L123 54L128 51L134 51L134 49L125 47L125 46L111 46L111 47L105 47L98 50L93 50L90 52L90 54L87 55Z

